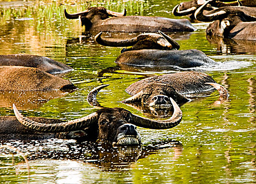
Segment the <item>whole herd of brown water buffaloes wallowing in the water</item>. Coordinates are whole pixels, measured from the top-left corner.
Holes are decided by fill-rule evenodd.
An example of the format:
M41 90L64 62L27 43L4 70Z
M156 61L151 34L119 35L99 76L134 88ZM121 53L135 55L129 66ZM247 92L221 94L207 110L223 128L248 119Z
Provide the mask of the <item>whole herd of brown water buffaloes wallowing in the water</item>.
M211 22L206 28L208 36L231 39L256 40L256 9L254 0L237 2L192 0L173 8L175 16L189 15L191 21ZM95 33L95 42L103 46L126 47L116 58L117 65L131 67L178 67L189 69L198 66L218 65L213 59L196 49L179 50L168 32L193 32L196 30L188 19L165 17L126 16L104 7L91 7L81 13L69 14L67 19L81 19L87 32ZM131 39L113 40L105 32L142 33ZM165 32L165 33L164 33ZM53 59L36 55L0 55L1 91L51 91L76 89L71 81L56 76L73 70ZM110 142L112 145L141 145L136 126L150 129L169 129L180 124L180 105L190 101L191 94L210 94L217 89L220 101L229 93L214 79L199 71L180 71L153 76L127 86L131 96L124 104L139 104L153 108L170 108L169 119L156 120L140 117L123 108L105 108L97 102L97 94L109 86L97 86L87 96L90 105L99 110L71 121L43 117L25 117L13 104L14 116L0 117L0 139L76 139ZM111 86L110 86L111 87Z

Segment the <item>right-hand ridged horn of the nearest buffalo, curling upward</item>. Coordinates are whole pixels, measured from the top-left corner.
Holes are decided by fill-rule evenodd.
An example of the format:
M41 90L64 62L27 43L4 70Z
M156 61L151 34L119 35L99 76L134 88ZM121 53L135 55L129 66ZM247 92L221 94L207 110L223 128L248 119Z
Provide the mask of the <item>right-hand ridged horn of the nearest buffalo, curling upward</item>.
M151 129L168 129L179 125L182 120L182 111L172 98L170 98L170 100L174 108L174 112L171 118L166 120L154 120L132 114L132 124Z

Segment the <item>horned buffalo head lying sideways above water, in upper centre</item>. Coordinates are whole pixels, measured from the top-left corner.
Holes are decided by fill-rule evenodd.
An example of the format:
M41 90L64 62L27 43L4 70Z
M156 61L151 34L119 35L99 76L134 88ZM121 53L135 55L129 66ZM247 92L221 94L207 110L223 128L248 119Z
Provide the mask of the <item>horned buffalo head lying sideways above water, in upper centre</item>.
M122 49L121 53L128 50L141 50L141 49L160 49L160 50L172 50L179 49L180 45L175 42L170 36L164 34L159 30L160 34L156 33L144 33L131 39L111 41L101 37L102 32L95 36L95 41L98 44L111 47L129 47Z

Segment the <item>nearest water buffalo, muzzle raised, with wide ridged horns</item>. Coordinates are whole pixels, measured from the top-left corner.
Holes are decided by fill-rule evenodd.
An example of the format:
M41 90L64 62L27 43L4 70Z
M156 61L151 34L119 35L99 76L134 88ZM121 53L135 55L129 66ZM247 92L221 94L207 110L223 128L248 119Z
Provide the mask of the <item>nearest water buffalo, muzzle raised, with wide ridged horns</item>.
M106 85L104 85L106 86ZM104 87L103 86L103 87ZM102 87L93 89L88 95L96 98L97 92ZM174 112L167 120L153 120L132 114L123 108L101 108L96 112L67 122L47 118L26 118L13 105L14 117L2 117L0 120L0 133L10 137L14 135L18 138L65 138L77 140L99 140L107 141L115 145L140 145L141 137L136 130L136 126L152 129L169 129L181 122L182 111L179 106L171 99ZM92 104L92 103L90 103ZM17 135L18 134L18 135Z

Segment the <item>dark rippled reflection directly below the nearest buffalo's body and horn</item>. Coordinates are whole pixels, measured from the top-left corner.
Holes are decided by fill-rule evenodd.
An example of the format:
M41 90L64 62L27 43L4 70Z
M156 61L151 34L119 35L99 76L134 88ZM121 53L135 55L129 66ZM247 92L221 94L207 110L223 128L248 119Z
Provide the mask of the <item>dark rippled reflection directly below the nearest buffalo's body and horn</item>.
M157 141L143 146L113 147L109 144L92 142L60 142L51 141L23 141L8 142L14 144L16 149L27 151L28 160L57 159L80 160L91 163L101 170L113 171L130 168L138 159L156 154L157 150L172 148L173 159L176 160L182 154L182 144L175 140ZM0 142L5 143L6 142ZM27 149L26 147L29 147ZM1 150L0 150L1 151ZM0 152L1 153L1 152Z

